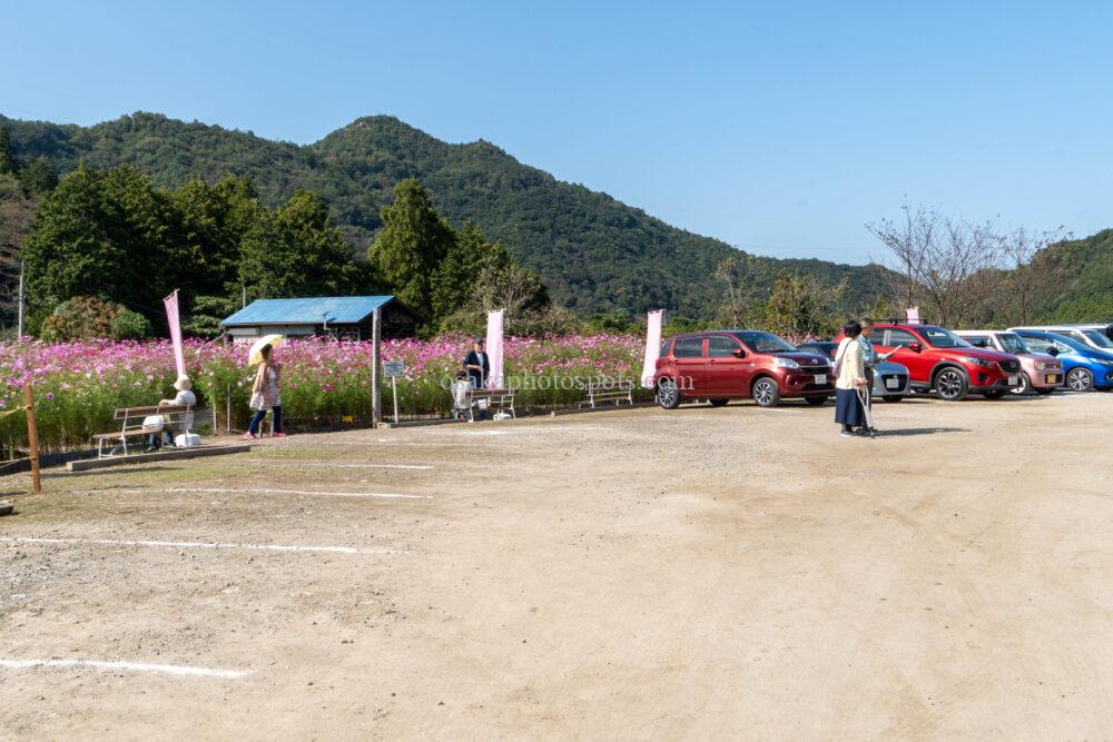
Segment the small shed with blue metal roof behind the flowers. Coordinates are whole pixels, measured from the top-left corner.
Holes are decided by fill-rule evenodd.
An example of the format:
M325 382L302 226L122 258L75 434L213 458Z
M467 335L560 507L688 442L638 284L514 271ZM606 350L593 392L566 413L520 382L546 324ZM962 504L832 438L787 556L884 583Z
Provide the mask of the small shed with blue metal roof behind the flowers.
M331 335L370 340L375 309L382 309L384 338L413 337L420 319L393 296L328 296L306 299L256 299L220 323L233 340L264 335Z

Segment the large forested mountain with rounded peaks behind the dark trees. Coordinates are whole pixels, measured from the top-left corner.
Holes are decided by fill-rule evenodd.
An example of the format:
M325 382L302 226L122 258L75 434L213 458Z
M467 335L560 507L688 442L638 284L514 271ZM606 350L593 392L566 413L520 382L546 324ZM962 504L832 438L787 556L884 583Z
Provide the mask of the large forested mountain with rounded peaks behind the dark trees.
M556 180L490 142L446 144L386 116L361 118L307 146L144 112L91 127L0 116L0 126L19 158L46 157L59 172L83 161L130 165L161 186L249 176L268 206L311 188L327 199L358 255L378 229L394 185L415 177L445 217L457 226L475 221L539 270L555 300L583 313L664 307L706 317L720 293L711 274L738 255L726 243L672 227L607 194ZM863 304L886 289L885 269L875 265L757 258L757 296L768 294L781 269L831 283L848 277Z

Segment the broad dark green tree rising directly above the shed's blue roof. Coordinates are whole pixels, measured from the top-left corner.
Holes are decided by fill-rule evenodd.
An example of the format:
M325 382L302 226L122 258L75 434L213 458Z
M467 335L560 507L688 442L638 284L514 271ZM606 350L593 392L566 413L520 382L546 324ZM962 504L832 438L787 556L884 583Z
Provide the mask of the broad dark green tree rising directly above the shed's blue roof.
M258 220L243 240L239 277L254 296L349 294L359 274L324 201L308 190Z

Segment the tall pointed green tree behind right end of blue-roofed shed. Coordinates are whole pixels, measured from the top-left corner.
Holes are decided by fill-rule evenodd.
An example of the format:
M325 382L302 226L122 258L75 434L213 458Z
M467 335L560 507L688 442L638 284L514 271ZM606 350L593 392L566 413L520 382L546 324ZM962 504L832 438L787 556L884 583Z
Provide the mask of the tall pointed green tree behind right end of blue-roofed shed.
M383 229L367 257L400 301L432 320L436 317L432 276L452 249L455 234L414 178L395 187L394 204L383 207L382 219Z

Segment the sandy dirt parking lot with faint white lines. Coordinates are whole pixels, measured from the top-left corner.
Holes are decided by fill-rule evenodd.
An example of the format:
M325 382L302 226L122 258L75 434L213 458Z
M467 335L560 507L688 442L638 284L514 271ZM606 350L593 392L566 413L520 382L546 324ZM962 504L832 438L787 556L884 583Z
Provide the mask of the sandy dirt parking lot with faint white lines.
M51 472L0 520L0 738L1107 738L1111 419L735 403Z

